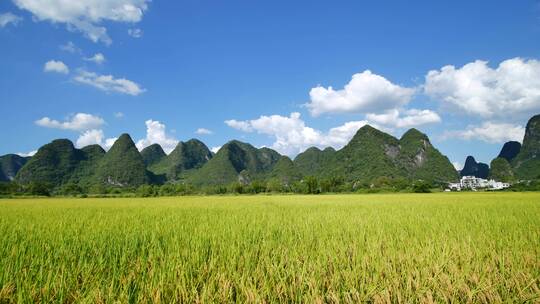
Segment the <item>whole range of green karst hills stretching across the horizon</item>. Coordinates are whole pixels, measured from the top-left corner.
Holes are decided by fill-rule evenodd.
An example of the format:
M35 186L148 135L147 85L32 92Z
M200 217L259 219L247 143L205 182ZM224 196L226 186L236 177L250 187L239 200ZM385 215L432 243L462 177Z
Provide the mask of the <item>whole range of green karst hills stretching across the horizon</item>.
M9 154L0 160L1 181L41 182L52 187L205 186L269 180L290 184L307 176L353 183L369 183L380 177L446 183L460 176L449 159L417 129L408 130L398 139L369 125L360 128L339 150L312 147L294 159L237 140L226 143L215 154L197 139L179 142L168 155L158 144L139 152L131 137L122 134L107 152L98 145L77 149L71 141L57 139L39 148L31 158ZM540 115L528 122L523 146L506 143L491 162L491 169L468 157L461 171L461 175L504 181L535 179L539 174Z

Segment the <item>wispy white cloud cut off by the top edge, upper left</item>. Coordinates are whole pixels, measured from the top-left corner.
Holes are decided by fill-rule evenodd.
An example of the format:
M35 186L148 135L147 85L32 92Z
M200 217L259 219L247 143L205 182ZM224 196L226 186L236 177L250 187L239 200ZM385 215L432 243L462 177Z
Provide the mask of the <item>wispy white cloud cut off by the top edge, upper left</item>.
M94 42L110 44L103 21L136 23L142 19L149 0L13 0L39 21L66 24Z

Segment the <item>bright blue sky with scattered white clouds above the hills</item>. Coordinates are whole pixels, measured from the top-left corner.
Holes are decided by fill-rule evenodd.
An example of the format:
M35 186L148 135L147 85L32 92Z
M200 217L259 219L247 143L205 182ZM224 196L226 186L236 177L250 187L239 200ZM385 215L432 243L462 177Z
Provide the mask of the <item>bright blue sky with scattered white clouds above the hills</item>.
M0 42L0 154L128 132L294 156L369 123L489 162L540 113L538 1L5 0Z

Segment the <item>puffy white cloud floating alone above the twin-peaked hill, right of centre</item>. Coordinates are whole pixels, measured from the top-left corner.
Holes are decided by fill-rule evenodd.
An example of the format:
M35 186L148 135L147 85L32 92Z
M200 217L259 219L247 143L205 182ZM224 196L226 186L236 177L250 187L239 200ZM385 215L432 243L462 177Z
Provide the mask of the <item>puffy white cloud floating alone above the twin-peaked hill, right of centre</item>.
M380 112L407 104L415 89L391 83L386 78L366 70L353 75L342 90L318 86L309 92L306 104L311 115L324 113Z

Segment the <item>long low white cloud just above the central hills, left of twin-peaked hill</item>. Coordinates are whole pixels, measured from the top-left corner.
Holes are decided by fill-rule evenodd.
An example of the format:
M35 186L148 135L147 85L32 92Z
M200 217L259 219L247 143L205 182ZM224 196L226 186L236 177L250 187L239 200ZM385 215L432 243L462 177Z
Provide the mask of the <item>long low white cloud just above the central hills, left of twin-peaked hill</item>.
M286 155L296 155L311 146L320 148L341 148L354 136L359 128L368 122L351 121L341 126L322 132L306 126L300 113L291 113L289 117L281 115L261 116L254 120L227 120L225 123L243 132L257 132L274 139L271 147Z

